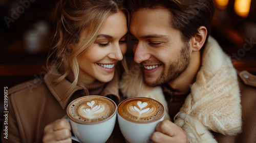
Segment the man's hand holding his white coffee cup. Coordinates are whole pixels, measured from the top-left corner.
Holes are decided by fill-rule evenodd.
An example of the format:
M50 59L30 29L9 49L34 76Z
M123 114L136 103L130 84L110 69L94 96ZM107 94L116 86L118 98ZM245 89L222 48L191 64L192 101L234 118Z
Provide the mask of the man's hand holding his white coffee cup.
M179 126L170 122L169 120L164 120L157 124L156 132L152 135L152 140L155 143L160 142L182 142L187 143L187 135Z

